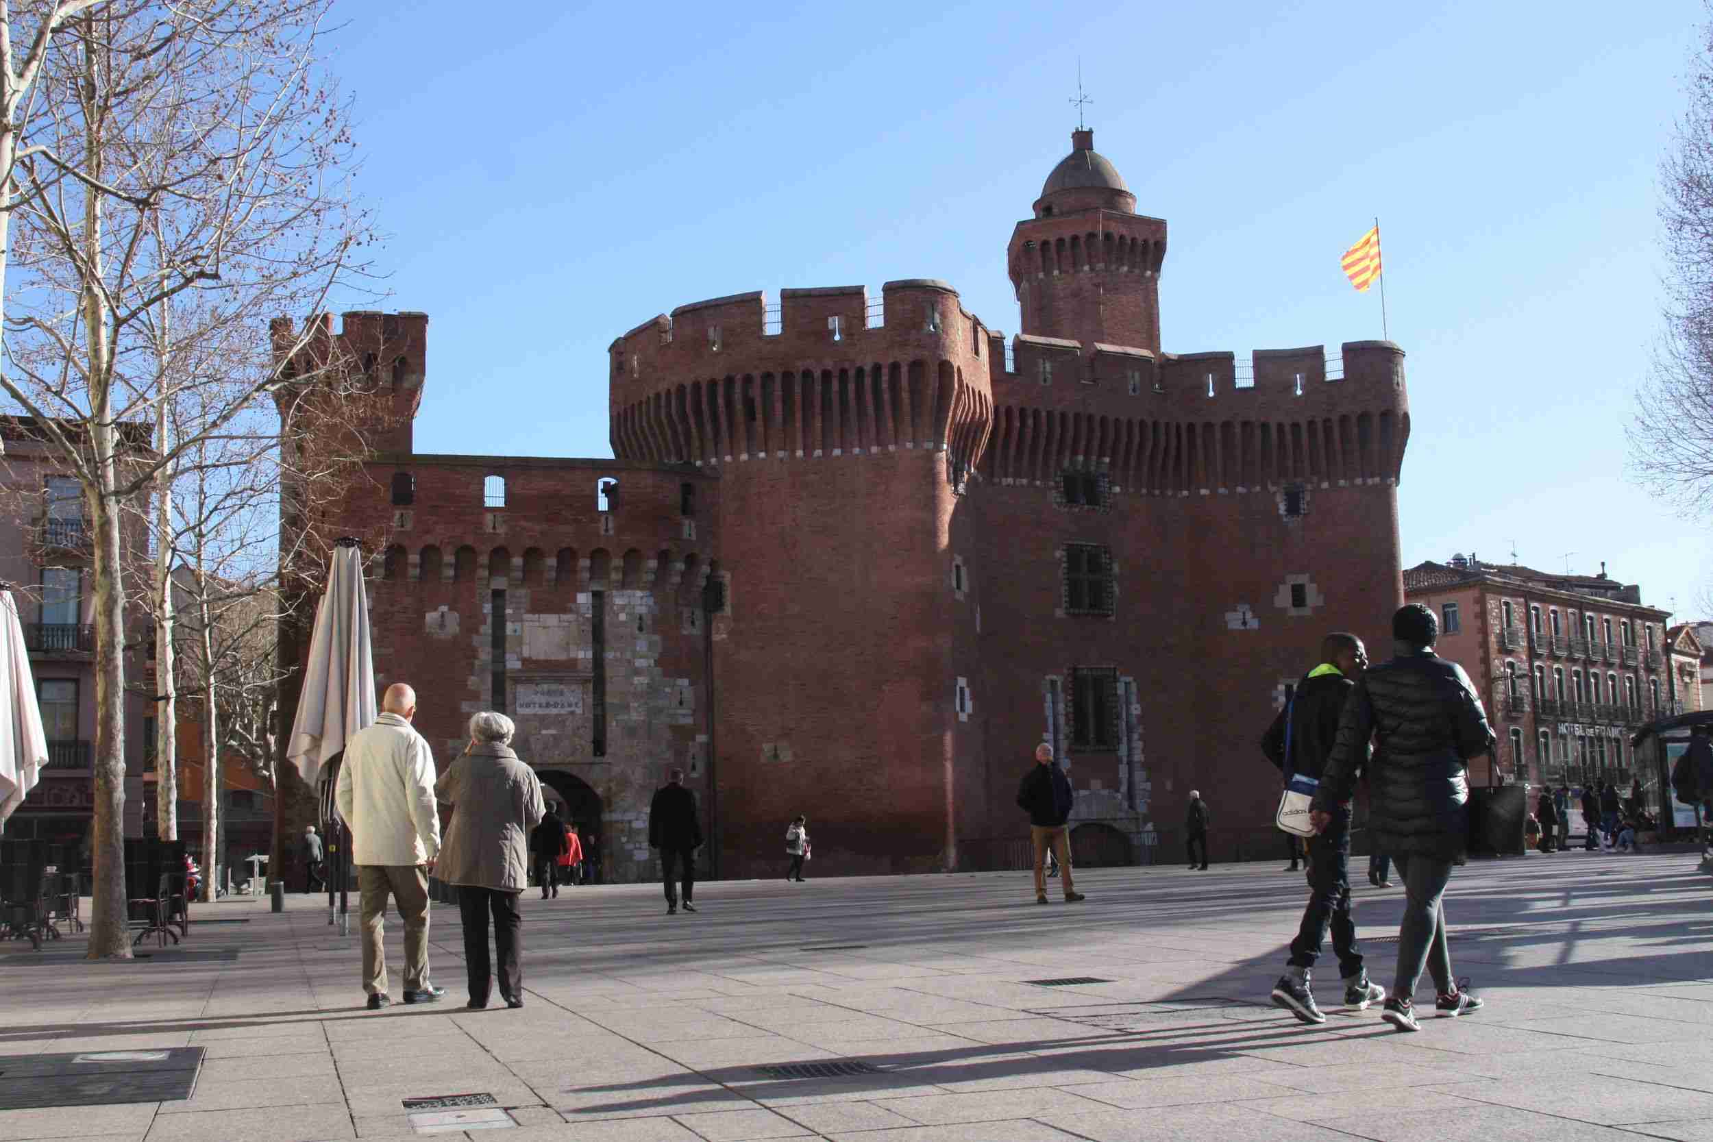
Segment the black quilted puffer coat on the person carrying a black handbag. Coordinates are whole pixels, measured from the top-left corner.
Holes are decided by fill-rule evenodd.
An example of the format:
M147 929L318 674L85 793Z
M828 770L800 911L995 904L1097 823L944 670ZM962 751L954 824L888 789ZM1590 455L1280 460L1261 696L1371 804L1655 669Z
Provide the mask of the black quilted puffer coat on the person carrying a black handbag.
M1470 832L1468 762L1492 745L1487 712L1463 668L1430 649L1400 645L1345 702L1314 808L1329 813L1348 801L1367 770L1369 825L1379 851L1461 861Z

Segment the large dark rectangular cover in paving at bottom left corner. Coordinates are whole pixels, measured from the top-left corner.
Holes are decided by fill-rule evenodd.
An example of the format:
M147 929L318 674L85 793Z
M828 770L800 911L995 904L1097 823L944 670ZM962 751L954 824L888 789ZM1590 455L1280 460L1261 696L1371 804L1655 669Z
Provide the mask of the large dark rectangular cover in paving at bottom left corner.
M0 1109L164 1103L190 1097L200 1046L0 1056Z

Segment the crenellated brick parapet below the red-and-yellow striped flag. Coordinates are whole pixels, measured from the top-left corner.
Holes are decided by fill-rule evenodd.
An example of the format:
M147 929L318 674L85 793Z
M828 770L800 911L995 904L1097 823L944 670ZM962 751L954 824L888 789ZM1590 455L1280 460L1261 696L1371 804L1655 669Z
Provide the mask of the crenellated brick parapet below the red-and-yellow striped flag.
M1011 349L1012 366L1000 358L990 375L982 474L997 483L1067 469L1144 495L1398 481L1410 411L1403 349L1389 341L1345 342L1338 356L1257 349L1247 361L1030 336Z

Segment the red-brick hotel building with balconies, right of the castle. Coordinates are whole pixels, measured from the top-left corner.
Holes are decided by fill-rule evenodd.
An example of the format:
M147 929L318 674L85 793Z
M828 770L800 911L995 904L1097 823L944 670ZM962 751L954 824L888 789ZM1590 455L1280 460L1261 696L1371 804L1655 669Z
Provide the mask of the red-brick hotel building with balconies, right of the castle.
M1499 735L1497 770L1475 762L1475 784L1629 784L1632 731L1701 709L1699 644L1691 683L1679 678L1694 633L1605 568L1550 575L1458 555L1403 582L1439 616L1439 654L1468 671Z

